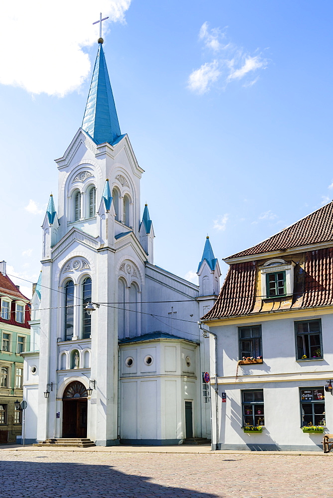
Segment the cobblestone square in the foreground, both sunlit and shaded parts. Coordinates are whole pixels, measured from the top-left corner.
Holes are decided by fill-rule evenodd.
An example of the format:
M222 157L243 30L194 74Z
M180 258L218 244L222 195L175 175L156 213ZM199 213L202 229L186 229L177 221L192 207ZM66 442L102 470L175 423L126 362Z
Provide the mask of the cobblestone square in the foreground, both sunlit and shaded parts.
M330 455L0 450L1 498L333 497Z

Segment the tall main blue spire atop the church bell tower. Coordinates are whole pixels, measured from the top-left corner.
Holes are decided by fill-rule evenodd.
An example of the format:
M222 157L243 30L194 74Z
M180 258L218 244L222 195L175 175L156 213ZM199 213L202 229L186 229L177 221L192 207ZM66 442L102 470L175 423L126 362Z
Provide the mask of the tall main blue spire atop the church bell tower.
M104 142L112 144L119 140L121 133L102 47L102 38L100 40L82 129L97 144Z

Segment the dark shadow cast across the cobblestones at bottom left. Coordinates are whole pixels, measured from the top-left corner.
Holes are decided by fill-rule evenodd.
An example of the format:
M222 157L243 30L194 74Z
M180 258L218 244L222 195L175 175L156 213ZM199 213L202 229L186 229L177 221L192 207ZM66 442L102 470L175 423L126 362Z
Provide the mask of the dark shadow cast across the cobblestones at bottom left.
M1 498L221 497L154 484L150 477L124 474L111 465L47 463L42 460L47 457L35 458L37 462L20 458L0 462ZM91 458L94 459L94 454Z

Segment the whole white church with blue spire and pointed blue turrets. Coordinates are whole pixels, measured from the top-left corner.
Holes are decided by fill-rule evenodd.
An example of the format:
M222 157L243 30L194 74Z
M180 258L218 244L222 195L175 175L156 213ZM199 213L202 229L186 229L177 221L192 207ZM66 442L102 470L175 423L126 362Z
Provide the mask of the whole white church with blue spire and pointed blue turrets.
M207 441L209 344L197 321L219 294L219 263L207 238L199 286L154 265L147 204L140 214L144 171L120 131L98 44L82 126L56 160L58 206L51 195L42 226L26 442Z

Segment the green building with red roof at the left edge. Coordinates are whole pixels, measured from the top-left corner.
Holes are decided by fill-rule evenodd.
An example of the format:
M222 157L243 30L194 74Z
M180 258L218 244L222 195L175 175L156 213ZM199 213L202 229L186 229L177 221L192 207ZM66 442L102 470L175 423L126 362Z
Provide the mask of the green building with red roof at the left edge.
M29 300L6 274L5 261L0 262L0 442L15 441L21 434L22 411L16 410L16 399L22 401L23 358L29 349Z

